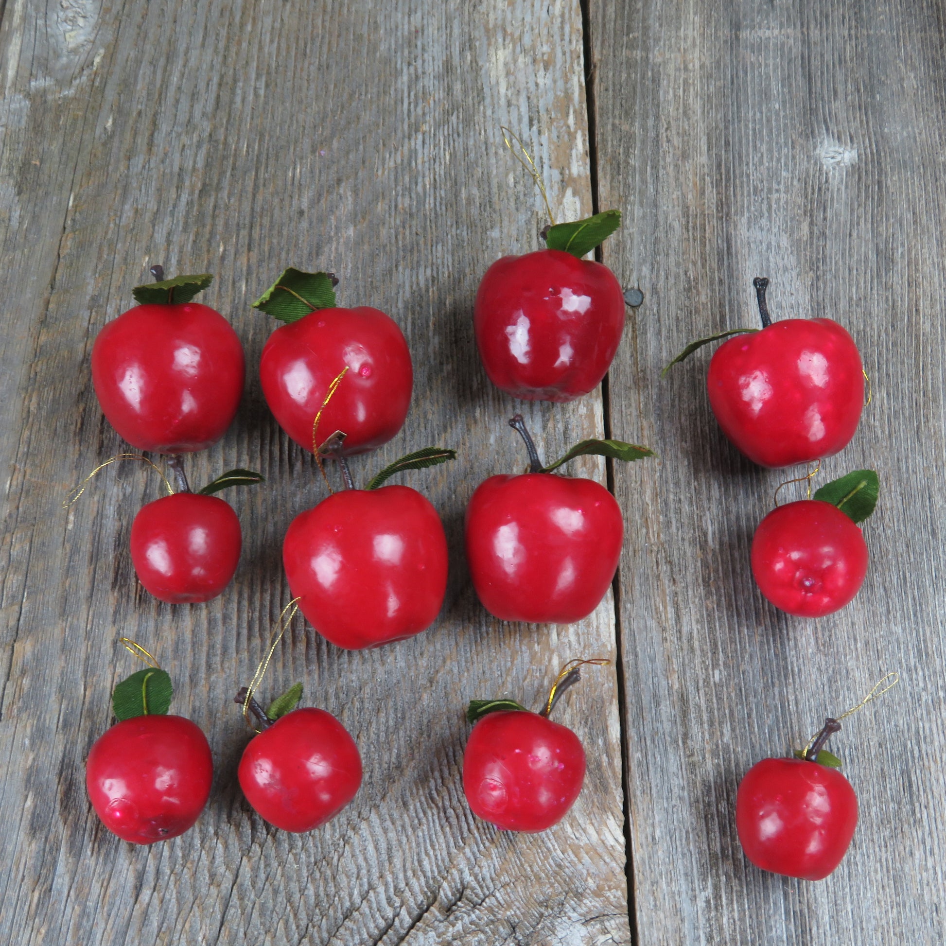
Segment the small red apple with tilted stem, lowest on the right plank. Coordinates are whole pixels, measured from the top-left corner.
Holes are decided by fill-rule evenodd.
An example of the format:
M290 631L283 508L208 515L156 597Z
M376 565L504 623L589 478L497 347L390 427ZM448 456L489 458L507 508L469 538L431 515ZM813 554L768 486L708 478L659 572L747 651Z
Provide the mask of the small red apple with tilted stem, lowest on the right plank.
M809 755L818 757L820 745L823 739ZM739 784L736 831L745 856L763 870L822 880L841 863L856 827L850 782L820 762L763 759Z

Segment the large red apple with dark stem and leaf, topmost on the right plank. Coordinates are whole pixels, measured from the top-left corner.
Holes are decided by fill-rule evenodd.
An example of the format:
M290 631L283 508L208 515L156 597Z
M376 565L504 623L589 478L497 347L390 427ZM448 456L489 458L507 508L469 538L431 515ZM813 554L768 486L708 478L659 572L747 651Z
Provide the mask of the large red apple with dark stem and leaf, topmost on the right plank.
M772 322L768 280L753 284L762 329L692 342L670 365L728 335L710 360L710 407L729 440L762 466L832 456L850 443L864 408L864 367L848 331L831 319ZM664 369L666 371L667 369Z

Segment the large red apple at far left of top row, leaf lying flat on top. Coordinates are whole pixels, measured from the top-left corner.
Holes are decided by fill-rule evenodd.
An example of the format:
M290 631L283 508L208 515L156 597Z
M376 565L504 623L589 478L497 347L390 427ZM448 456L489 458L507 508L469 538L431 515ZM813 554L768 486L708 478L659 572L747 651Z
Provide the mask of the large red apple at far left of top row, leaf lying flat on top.
M165 301L129 309L96 336L92 381L98 403L138 449L203 450L223 436L236 414L243 347L219 312L189 301L210 276L164 281L160 267L152 272L162 281L138 287L135 298Z

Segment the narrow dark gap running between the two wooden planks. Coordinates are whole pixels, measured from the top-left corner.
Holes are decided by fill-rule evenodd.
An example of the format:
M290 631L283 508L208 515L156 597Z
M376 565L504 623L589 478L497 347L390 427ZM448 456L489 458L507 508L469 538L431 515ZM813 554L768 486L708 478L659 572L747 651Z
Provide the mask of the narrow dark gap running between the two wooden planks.
M595 102L595 74L597 68L594 61L594 47L591 42L591 2L592 0L580 0L582 11L582 48L585 60L588 163L591 167L591 213L597 214L600 212L601 207L598 202L598 123ZM600 246L596 247L594 257L599 263L602 262L603 252ZM601 399L602 413L604 416L604 438L610 440L613 437L613 430L611 428L610 372L604 375L604 379L601 382ZM604 469L608 492L614 495L614 461L611 458L605 458ZM627 881L627 922L630 926L632 946L638 946L638 917L634 898L634 855L631 845L631 812L628 802L630 796L628 791L630 780L627 748L627 699L625 696L624 653L621 633L621 569L618 569L614 573L614 581L611 587L614 598L614 636L615 647L617 649L615 669L617 671L618 680L618 725L621 733L621 786L622 811L624 815L624 877Z

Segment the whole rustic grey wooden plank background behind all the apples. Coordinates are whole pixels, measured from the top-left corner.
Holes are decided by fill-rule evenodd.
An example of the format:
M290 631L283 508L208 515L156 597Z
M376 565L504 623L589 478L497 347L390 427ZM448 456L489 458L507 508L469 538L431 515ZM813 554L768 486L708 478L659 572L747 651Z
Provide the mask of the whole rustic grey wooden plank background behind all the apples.
M946 17L937 0L6 0L0 3L0 342L3 726L0 937L18 944L939 943L946 850L942 750L946 453ZM559 628L489 619L465 573L478 482L523 463L521 405L479 366L471 309L500 254L545 222L501 145L519 131L564 219L617 206L604 260L645 301L629 310L600 394L529 406L549 455L603 431L657 462L575 471L609 482L627 540L616 597ZM221 443L193 480L258 468L234 491L244 556L206 605L135 586L131 518L159 494L110 466L123 444L89 374L97 330L131 287L217 274L204 301L250 366ZM249 303L286 265L337 272L342 304L390 312L412 345L408 424L364 476L410 449L457 447L409 475L447 524L442 620L347 653L300 620L268 686L296 679L337 713L365 762L355 802L287 835L236 787L247 731L231 703L289 600L279 550L324 496L311 459L263 402L254 365L272 324ZM779 473L715 427L706 353L659 377L683 343L753 318L850 327L873 403L825 475L875 466L872 568L817 622L753 586L748 547ZM208 734L217 776L197 827L149 849L105 832L83 761L109 693L157 653L175 710ZM587 745L586 790L535 836L464 804L471 696L538 704L569 657L610 656L560 705ZM735 838L740 775L802 744L888 670L901 685L832 744L861 801L830 879L765 875Z

